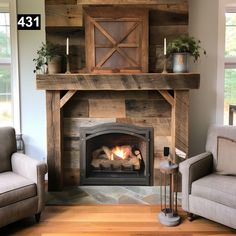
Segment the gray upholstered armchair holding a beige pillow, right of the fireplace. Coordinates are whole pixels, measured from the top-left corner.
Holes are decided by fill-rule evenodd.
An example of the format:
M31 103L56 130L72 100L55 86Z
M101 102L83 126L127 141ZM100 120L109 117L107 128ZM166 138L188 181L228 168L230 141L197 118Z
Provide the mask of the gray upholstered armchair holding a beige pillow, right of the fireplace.
M206 152L180 163L182 208L236 229L236 127L211 126Z

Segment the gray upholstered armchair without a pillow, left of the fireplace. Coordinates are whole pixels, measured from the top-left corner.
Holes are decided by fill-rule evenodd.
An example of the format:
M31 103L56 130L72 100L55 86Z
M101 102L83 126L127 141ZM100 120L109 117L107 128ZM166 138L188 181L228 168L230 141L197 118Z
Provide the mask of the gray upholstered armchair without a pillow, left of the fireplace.
M47 165L16 152L15 130L0 128L0 227L44 208Z

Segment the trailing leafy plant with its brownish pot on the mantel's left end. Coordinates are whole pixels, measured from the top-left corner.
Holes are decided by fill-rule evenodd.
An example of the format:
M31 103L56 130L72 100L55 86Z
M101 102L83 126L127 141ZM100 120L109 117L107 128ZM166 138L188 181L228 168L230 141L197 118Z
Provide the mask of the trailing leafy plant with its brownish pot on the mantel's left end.
M61 55L60 47L52 43L42 43L37 50L37 57L33 59L35 63L34 73L60 73L61 72Z

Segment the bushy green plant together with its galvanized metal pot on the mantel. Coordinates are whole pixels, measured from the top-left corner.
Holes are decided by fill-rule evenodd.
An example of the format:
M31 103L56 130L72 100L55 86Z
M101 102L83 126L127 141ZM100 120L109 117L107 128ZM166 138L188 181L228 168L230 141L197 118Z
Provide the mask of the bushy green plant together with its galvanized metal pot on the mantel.
M168 44L167 56L173 57L173 72L188 72L190 56L192 56L194 62L196 62L200 57L201 50L206 55L205 49L203 49L200 44L200 40L187 35L182 35Z

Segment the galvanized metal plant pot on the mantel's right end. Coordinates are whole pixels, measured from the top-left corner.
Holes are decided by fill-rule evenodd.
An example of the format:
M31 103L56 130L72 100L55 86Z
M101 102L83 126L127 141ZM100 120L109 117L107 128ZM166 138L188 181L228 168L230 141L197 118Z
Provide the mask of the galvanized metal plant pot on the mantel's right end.
M189 53L173 53L173 72L186 73L189 71Z

